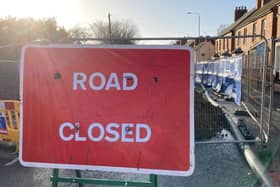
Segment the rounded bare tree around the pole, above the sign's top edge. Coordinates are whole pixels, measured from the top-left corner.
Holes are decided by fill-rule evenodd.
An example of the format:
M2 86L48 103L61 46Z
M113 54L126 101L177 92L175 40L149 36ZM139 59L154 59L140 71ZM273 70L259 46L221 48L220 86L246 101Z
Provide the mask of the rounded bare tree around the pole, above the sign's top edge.
M120 39L129 39L138 35L137 27L130 21L113 21L111 22L111 34L109 29L109 24L104 21L96 21L90 24L90 32L96 38L120 38ZM104 44L135 44L135 41L132 40L104 40Z

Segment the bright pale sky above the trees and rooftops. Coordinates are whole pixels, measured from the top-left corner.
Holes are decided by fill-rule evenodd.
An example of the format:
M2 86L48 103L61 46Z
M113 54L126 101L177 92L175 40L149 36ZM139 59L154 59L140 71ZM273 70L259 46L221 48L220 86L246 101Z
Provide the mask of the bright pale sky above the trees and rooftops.
M221 24L233 22L234 8L254 8L256 0L7 0L0 6L0 17L55 17L70 29L93 21L130 20L141 37L183 37L216 35Z

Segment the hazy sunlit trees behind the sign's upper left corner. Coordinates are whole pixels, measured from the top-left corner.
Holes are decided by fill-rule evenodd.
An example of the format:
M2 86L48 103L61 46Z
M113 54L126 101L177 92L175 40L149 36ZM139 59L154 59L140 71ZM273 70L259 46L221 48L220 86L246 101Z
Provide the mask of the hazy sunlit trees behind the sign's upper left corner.
M30 42L69 42L69 34L55 18L0 18L0 58L19 59L21 47Z

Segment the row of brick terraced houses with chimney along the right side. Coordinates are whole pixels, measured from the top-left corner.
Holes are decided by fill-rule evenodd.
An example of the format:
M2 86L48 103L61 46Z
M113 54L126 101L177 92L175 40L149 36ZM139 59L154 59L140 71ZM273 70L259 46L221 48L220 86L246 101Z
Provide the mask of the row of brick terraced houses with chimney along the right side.
M246 81L247 71L254 71L258 62L248 61L250 51L260 45L262 35L268 44L268 71L273 71L272 77L267 73L267 79L273 79L274 105L280 108L280 0L256 0L256 7L247 11L246 7L236 7L234 11L234 23L225 28L220 36L235 36L237 38L218 39L215 42L216 56L227 56L234 53L243 53L243 80ZM253 37L238 38L238 36L251 35ZM246 69L248 63L251 68ZM250 65L250 64L249 64ZM255 77L261 79L261 77ZM256 80L257 82L257 80ZM258 84L258 83L256 83ZM256 85L257 87L258 85ZM246 88L243 89L246 91Z

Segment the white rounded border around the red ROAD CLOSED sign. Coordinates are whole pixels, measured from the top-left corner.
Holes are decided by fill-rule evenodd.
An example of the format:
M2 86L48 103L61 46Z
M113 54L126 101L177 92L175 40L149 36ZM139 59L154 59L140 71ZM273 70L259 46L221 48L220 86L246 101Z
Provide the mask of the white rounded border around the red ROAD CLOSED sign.
M132 46L132 45L34 45L29 44L24 47L22 50L21 55L21 79L20 79L20 97L21 97L21 116L20 116L20 153L19 153L19 160L23 166L29 167L46 167L46 168L61 168L61 169L81 169L81 170L99 170L99 171L114 171L114 172L129 172L129 173L142 173L142 174L160 174L160 175L174 175L174 176L189 176L194 171L195 166L195 157L194 157L194 113L190 110L190 127L189 127L189 143L190 143L190 168L188 171L183 170L166 170L166 169L145 169L145 168L129 168L129 167L115 167L115 166L95 166L95 165L78 165L78 164L62 164L62 163L40 163L40 162L30 162L25 161L23 159L23 75L24 75L24 54L25 50L28 48L37 47L37 48L112 48L112 49L167 49L167 50L186 50L190 52L190 109L194 108L194 63L193 63L193 52L192 49L188 46Z

